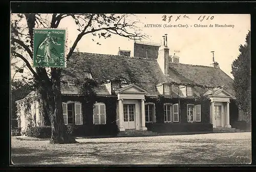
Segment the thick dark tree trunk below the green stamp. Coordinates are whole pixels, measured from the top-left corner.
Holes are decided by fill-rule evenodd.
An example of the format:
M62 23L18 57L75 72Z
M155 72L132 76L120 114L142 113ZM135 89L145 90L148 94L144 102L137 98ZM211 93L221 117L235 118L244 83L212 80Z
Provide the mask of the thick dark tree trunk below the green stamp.
M50 143L77 143L74 138L67 134L63 120L60 92L60 70L52 68L51 76L51 82L42 85L40 89L42 102L52 126Z

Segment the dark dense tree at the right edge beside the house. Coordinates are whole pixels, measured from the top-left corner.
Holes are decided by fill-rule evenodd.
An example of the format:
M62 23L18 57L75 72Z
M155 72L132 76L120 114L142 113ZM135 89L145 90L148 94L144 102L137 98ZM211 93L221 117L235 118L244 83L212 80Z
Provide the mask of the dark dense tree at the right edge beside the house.
M251 114L251 32L246 35L245 45L240 45L240 54L232 62L234 76L234 91L236 92L236 103L246 116L249 122Z

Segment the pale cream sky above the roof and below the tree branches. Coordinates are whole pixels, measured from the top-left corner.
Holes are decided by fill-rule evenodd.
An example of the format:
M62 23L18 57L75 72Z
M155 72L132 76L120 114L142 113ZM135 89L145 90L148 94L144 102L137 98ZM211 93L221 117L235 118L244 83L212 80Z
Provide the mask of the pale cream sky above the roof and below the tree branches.
M165 22L162 20L163 15L166 15ZM171 15L173 17L168 23L168 17ZM180 19L175 21L179 15L181 15ZM204 15L206 17L203 19ZM200 21L199 17L203 20ZM215 51L215 61L219 62L220 68L230 77L232 77L231 63L238 57L239 46L245 43L246 34L250 30L249 14L137 14L132 16L131 20L140 20L137 26L149 36L144 41L160 44L162 35L168 34L169 54L176 52L176 55L180 56L180 63L210 66L212 63L210 52ZM162 27L144 27L146 24L159 24ZM164 24L181 24L187 25L188 28L164 28ZM208 27L194 27L195 24ZM209 27L210 24L213 27ZM233 28L217 28L216 24L233 25ZM70 45L73 44L79 32L72 18L67 17L61 20L59 28L68 29L68 42ZM92 41L92 38L96 41ZM101 45L97 45L96 42ZM122 50L131 50L133 55L133 40L117 35L107 39L97 39L95 36L86 35L77 45L80 52L113 55L117 55L119 47Z

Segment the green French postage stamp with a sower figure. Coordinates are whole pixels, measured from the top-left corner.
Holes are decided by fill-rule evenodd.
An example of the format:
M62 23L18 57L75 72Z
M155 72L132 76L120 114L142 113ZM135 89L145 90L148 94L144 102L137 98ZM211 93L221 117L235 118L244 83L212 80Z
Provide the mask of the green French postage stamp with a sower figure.
M34 67L65 68L65 29L34 29Z

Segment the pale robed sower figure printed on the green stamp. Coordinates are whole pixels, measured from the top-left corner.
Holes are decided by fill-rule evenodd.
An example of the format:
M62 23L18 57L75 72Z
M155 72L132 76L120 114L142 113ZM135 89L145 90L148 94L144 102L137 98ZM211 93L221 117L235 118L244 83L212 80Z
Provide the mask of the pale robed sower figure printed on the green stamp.
M42 43L39 46L39 49L44 52L45 62L47 64L49 64L49 62L52 63L58 60L58 57L51 52L52 45L60 46L60 44L58 44L52 37L51 32L48 32L47 37L44 41L42 41Z

